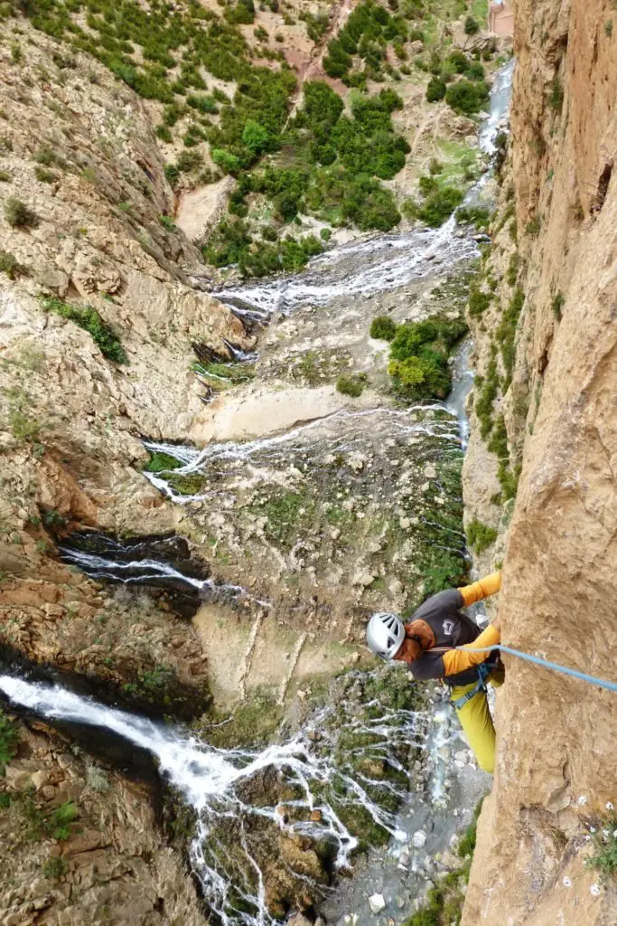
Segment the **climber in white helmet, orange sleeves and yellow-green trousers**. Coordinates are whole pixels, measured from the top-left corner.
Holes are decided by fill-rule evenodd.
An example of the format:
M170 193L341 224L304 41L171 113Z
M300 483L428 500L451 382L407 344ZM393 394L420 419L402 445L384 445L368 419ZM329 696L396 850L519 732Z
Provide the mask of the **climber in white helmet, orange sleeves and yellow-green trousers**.
M440 679L450 686L454 706L467 741L481 769L495 769L495 727L487 703L486 682L499 687L504 669L499 650L472 653L500 643L500 620L485 630L463 614L462 607L474 605L501 587L501 573L431 595L403 624L396 614L374 614L366 627L366 641L376 656L386 661L406 662L413 678L420 682ZM463 646L463 649L454 649Z

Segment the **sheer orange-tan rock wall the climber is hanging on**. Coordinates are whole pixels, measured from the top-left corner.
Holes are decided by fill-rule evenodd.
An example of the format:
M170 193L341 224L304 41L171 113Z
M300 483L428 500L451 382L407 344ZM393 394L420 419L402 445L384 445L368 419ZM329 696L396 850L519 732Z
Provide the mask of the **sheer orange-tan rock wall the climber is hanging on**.
M525 295L501 410L512 464L522 463L522 473L500 615L507 644L614 681L613 19L614 6L601 0L519 0L515 7L512 181ZM503 210L509 192L502 196ZM476 331L485 366L498 321L489 314L485 332ZM466 476L473 506L469 467ZM591 891L598 875L584 862L586 827L615 798L615 695L506 661L498 767L463 924L609 926L617 921L614 884Z

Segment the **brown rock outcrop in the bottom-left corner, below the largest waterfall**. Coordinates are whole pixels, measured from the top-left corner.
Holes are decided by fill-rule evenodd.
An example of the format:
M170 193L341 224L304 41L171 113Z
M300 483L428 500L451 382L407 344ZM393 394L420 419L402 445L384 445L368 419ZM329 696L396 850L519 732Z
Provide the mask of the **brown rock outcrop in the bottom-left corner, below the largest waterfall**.
M0 786L0 835L10 846L3 924L202 926L195 887L156 826L148 787L35 728L19 724L18 754Z

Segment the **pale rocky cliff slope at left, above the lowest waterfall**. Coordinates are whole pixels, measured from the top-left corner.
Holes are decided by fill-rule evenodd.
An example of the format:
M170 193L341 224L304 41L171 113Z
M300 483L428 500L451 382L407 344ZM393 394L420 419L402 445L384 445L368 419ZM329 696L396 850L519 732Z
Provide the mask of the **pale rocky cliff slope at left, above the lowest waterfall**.
M203 706L191 627L105 599L51 558L41 515L67 528L173 529L181 513L139 471L140 437L183 437L203 407L192 344L248 342L191 286L199 252L161 220L173 194L142 101L25 20L17 45L10 31L0 39L0 58L0 644L116 688L164 664ZM11 218L15 201L28 220ZM127 362L105 358L41 296L93 307Z

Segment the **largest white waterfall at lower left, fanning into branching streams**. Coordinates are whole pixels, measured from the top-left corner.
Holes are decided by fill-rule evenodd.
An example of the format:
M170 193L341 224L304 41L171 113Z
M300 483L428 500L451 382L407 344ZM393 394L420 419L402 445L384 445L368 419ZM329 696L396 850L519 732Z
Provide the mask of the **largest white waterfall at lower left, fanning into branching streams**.
M363 678L361 673L355 673L355 677ZM58 685L2 675L0 691L13 704L47 720L64 720L114 732L156 758L161 775L196 812L196 834L191 845L193 870L202 884L208 906L225 924L243 922L247 926L261 926L273 921L265 903L263 871L250 838L255 818L268 820L277 830L289 835L327 840L332 845L338 869L349 865L358 845L340 818L341 807L364 807L376 824L394 839L401 838L396 815L380 807L378 799L369 791L385 789L402 799L404 786L354 770L351 760L360 747L338 761L335 754L341 732L347 736L350 732L368 736L371 743L362 747L363 757L386 763L406 776L397 751L408 747L421 732L425 718L418 712L383 707L378 698L373 698L364 704L367 713L360 716L355 705L342 722L339 719L329 729L328 721L341 709L340 705L319 711L312 718L311 730L296 733L286 743L270 745L261 751L222 750L174 727L105 707ZM319 731L318 735L312 733L315 730ZM253 806L242 796L242 787L266 770L278 773L285 785L286 798ZM337 806L327 798L330 794L327 789L335 782ZM319 810L318 815L313 814L315 808ZM244 864L240 865L234 851L235 840L228 844L220 838L220 827L225 832L232 824L237 828L241 846ZM306 879L301 873L291 874ZM239 897L244 908L237 906Z

